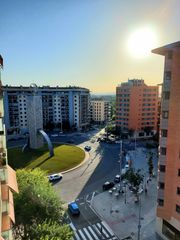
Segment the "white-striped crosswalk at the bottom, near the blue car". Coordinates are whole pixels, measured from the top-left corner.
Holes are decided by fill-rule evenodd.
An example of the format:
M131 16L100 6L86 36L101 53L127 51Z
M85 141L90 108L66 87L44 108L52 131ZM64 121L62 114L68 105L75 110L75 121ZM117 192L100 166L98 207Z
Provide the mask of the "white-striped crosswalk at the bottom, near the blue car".
M99 222L82 229L74 229L74 240L118 240L105 222Z

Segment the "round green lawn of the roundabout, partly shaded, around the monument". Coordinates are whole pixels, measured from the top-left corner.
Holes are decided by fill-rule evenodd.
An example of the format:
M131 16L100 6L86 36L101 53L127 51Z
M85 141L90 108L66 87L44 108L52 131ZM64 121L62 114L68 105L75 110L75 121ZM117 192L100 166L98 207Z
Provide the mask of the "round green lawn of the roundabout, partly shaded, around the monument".
M22 148L8 149L8 163L14 168L36 168L46 170L48 173L62 172L77 166L84 160L82 149L72 145L54 146L54 156L49 158L47 146L40 149Z

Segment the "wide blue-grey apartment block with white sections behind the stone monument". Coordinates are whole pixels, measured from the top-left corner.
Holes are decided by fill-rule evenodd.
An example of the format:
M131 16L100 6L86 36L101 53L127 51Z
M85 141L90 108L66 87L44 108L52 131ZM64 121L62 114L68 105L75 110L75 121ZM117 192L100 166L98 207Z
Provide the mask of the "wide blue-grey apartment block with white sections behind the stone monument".
M89 124L89 90L80 87L3 86L5 124L7 131L28 131L27 102L34 94L40 96L43 126L53 123L83 129ZM38 114L38 113L37 113ZM64 125L64 126L63 126Z

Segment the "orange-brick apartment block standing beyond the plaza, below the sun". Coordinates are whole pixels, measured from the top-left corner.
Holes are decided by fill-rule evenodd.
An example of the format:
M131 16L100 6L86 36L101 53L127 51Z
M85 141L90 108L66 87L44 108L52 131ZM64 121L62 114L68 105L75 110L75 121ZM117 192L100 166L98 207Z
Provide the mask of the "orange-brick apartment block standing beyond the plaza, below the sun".
M132 79L116 87L116 126L143 135L147 127L157 130L158 86Z

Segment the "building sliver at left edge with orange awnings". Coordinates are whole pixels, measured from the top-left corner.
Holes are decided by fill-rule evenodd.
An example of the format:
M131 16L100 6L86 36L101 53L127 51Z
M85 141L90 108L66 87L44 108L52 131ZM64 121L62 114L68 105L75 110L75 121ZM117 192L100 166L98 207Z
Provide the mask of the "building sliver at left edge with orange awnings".
M1 71L0 56L0 71ZM13 192L18 192L16 173L8 166L4 127L3 90L0 79L0 239L12 240L15 222Z

